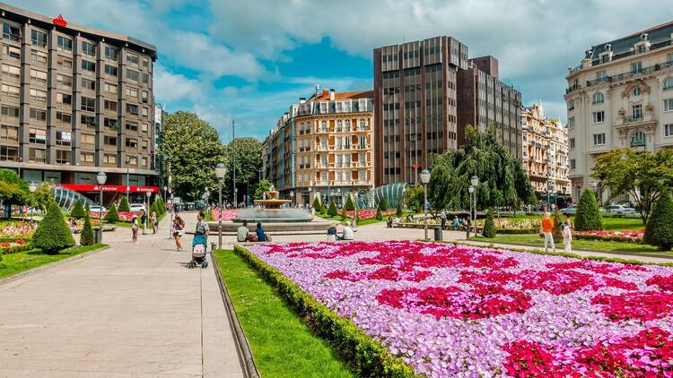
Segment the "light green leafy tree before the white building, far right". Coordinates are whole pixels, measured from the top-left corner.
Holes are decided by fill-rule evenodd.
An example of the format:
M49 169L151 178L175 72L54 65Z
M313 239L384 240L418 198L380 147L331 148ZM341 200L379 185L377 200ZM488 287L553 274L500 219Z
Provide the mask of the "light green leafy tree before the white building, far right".
M611 150L596 159L593 177L609 189L610 199L628 194L647 224L661 191L673 185L673 150Z

